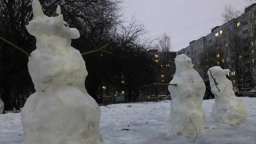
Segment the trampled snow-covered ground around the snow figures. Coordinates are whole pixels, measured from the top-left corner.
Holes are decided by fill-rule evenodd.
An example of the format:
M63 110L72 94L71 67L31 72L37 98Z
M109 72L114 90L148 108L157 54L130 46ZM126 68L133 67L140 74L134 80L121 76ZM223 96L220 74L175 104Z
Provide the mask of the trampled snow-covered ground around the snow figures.
M238 126L214 123L210 115L214 99L204 100L204 134L198 134L195 143L255 144L256 98L242 99L246 104L248 120L246 124ZM182 137L167 133L169 114L170 101L101 106L100 129L105 142L109 144L192 143L193 136ZM23 137L20 113L1 114L0 143L24 143Z

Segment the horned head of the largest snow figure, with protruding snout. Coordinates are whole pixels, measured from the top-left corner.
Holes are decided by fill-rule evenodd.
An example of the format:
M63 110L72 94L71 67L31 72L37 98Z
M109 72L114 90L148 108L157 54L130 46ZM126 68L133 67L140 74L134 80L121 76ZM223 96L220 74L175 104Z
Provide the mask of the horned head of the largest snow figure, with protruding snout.
M66 45L71 44L71 39L80 37L79 31L76 28L69 28L68 24L63 21L60 6L58 5L56 13L57 17L46 16L41 8L38 0L32 2L34 19L26 26L29 34L38 39L58 38L59 42L64 42Z

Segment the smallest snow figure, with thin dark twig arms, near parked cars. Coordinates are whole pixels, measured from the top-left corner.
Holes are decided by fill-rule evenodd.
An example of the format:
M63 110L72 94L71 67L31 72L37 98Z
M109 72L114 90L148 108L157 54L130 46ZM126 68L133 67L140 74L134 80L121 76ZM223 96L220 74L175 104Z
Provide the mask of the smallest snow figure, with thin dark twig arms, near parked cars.
M236 97L232 90L232 82L227 79L226 74L229 69L223 70L221 67L215 66L209 69L208 75L211 85L211 90L217 94L215 103L212 105L211 116L215 122L220 122L227 125L239 125L247 119L246 107L241 98ZM212 74L212 76L211 76ZM214 80L216 79L217 87Z

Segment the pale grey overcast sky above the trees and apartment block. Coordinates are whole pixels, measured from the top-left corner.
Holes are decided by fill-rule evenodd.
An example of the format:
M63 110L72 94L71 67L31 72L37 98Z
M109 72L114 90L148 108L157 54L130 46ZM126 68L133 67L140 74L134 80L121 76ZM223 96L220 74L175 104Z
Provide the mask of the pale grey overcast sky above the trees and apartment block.
M150 37L159 37L165 31L171 37L173 51L178 51L223 24L224 5L231 4L244 12L250 5L245 0L126 0L124 16L140 20L150 31Z

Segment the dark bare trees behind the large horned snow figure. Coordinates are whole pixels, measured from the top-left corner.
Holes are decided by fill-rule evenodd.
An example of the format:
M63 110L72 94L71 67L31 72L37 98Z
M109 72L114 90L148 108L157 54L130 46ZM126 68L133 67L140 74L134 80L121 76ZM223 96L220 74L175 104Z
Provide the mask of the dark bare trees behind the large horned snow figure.
M64 20L80 32L80 38L72 40L72 47L81 53L91 51L112 42L104 50L109 53L84 55L88 76L86 89L96 100L102 82L120 85L118 77L124 77L129 101L143 91L143 85L154 81L152 59L146 52L152 47L144 40L147 31L134 19L124 21L123 7L119 0L39 0L47 16L56 16L61 6ZM0 1L0 36L31 53L36 39L28 34L25 26L33 18L32 0ZM28 72L28 56L0 40L0 93L5 110L19 109L34 93L34 84Z

